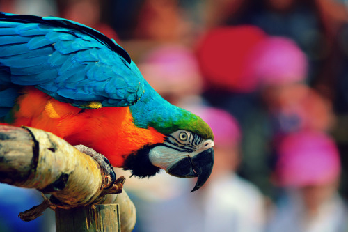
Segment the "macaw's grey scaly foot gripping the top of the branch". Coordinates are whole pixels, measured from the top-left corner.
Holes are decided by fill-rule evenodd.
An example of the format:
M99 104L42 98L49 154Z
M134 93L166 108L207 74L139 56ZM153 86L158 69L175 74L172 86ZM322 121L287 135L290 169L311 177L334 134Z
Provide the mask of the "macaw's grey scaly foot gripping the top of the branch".
M84 145L76 145L74 148L77 148L77 150L81 151L81 153L85 153L86 155L89 155L90 157L93 157L95 161L100 165L102 168L102 171L106 174L106 178L109 180L106 183L109 183L109 187L113 187L114 184L116 184L117 180L120 179L118 178L116 180L116 173L113 171L113 167L111 163L109 162L106 157L100 153L97 153L95 150L92 148L88 148L87 146ZM124 183L124 182L123 182Z

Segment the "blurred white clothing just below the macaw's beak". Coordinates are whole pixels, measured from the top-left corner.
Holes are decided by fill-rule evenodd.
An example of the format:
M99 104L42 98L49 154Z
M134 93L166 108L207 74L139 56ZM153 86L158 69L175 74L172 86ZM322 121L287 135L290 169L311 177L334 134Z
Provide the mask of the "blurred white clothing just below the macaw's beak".
M207 184L170 201L137 208L139 231L264 231L264 199L254 185L235 174Z

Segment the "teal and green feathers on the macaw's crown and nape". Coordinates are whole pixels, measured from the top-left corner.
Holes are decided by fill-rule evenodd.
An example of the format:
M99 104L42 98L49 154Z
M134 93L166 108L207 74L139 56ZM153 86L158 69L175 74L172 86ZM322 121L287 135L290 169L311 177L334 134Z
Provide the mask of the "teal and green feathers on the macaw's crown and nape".
M129 107L134 123L141 128L153 127L162 134L188 130L204 139L213 139L212 130L200 117L171 105L145 81L145 93L135 105Z

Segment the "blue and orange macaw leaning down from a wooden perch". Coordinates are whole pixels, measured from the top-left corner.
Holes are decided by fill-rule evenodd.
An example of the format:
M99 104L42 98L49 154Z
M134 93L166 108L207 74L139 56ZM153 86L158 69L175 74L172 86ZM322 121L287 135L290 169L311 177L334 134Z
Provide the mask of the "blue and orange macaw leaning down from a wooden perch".
M0 13L1 122L83 144L139 178L197 177L192 191L214 163L207 123L161 98L114 40L58 17Z

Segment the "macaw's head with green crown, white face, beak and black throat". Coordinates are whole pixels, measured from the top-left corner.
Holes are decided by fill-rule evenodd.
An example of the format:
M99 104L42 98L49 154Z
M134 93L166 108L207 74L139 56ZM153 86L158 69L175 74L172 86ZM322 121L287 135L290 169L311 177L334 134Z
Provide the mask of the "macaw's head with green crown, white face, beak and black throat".
M164 134L163 141L143 146L125 159L124 166L139 178L153 176L161 169L180 178L196 177L196 185L191 191L193 192L202 187L212 173L214 135L209 125L200 117L180 107L169 106L171 111L164 107L161 112L167 111L170 114L158 114L156 122L149 124ZM133 114L137 118L136 112ZM141 119L144 117L143 115Z

